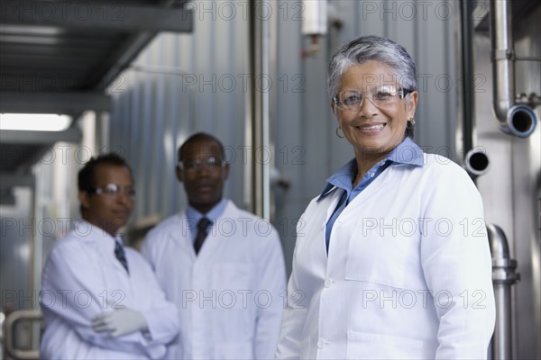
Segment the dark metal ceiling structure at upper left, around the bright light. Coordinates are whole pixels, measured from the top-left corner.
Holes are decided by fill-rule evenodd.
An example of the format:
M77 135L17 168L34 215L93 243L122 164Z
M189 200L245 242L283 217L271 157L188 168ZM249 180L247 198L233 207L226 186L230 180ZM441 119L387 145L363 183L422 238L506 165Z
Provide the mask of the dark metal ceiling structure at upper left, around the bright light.
M87 110L108 111L105 89L158 32L193 30L186 3L2 0L0 112L64 113L77 119ZM2 130L2 193L29 175L43 148L80 138L73 123L57 132Z

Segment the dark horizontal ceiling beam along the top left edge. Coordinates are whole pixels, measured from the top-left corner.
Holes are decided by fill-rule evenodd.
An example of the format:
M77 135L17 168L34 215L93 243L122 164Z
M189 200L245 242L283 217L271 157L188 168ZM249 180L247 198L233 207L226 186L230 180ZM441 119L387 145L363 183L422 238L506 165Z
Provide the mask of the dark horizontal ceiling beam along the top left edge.
M3 25L58 26L72 29L109 31L193 30L193 9L188 6L137 6L126 2L2 2Z

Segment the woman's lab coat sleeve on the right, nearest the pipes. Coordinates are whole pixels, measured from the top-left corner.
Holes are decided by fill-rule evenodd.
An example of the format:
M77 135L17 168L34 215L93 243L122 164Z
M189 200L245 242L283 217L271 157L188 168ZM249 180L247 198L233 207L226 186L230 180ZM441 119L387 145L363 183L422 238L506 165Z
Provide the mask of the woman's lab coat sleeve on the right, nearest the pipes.
M481 195L454 163L436 171L419 220L421 265L439 319L436 359L486 358L495 304Z

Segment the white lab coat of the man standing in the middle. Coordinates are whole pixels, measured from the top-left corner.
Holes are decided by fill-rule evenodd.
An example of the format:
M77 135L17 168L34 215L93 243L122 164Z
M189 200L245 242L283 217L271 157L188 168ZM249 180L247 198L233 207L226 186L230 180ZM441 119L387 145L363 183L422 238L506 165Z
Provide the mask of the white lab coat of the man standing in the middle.
M179 307L173 359L269 359L285 303L280 238L267 220L228 201L196 256L185 212L152 229L142 246Z

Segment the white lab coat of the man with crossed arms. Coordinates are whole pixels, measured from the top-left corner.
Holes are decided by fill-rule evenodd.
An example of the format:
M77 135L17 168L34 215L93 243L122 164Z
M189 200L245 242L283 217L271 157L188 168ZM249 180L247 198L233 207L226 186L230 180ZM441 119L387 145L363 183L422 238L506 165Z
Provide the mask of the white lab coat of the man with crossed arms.
M148 262L125 248L130 274L115 257L115 238L78 221L50 252L40 302L45 320L41 359L159 359L179 332L177 308L167 302ZM149 332L118 338L92 329L103 311L141 311Z

